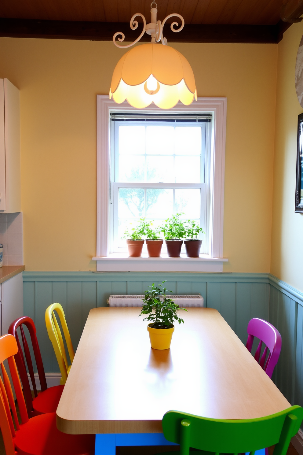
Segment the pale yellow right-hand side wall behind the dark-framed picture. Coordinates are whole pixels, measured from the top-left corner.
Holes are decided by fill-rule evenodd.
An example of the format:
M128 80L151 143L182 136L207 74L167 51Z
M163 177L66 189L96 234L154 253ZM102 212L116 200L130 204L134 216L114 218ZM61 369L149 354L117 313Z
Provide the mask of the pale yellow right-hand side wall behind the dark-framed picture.
M298 102L294 71L303 23L293 24L278 44L271 273L303 291L303 214L294 212Z

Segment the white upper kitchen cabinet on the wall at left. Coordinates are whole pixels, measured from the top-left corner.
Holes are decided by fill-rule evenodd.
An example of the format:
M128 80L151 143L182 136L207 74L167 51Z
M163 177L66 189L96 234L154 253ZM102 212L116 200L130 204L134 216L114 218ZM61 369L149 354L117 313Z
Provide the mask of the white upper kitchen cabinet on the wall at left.
M21 212L20 91L0 79L0 213Z

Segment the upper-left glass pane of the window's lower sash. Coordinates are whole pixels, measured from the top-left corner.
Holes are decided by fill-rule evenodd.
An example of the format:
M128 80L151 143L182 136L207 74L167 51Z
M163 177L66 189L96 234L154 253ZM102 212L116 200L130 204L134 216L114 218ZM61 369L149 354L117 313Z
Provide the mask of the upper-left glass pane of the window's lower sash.
M119 188L119 218L144 217L144 189Z

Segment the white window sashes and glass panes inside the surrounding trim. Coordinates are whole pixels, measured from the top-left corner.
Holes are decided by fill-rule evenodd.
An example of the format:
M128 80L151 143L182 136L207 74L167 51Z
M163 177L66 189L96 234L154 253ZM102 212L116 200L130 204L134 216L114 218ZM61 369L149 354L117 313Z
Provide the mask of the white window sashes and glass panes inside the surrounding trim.
M110 117L109 252L127 251L124 232L142 217L156 227L182 213L208 232L211 115ZM201 253L208 253L207 238Z

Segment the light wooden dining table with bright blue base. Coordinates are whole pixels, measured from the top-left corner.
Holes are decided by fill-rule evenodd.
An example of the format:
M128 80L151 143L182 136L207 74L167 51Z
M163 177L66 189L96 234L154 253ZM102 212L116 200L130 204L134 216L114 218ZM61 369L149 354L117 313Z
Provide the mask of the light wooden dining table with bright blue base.
M163 351L150 348L140 310L90 310L57 408L59 430L96 435L95 455L172 445L161 425L168 410L253 419L290 407L217 310L182 311Z

